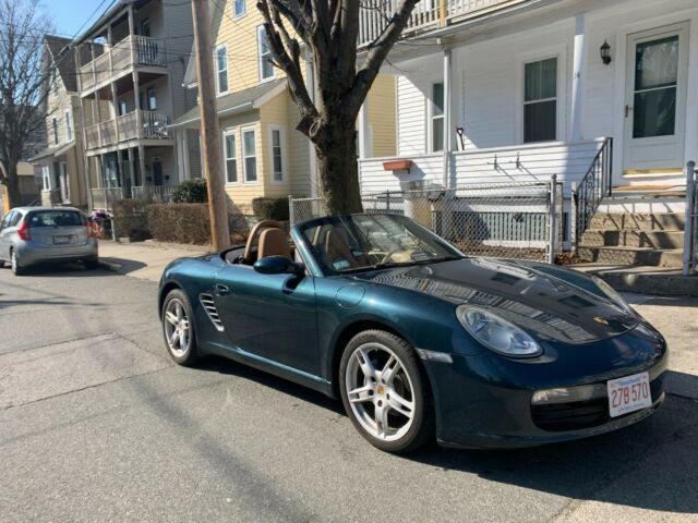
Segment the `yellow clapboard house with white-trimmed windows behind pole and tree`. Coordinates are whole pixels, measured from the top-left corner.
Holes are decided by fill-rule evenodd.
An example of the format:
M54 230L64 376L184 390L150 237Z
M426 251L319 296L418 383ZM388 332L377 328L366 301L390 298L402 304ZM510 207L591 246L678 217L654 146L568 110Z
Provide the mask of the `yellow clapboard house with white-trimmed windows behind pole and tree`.
M299 111L284 72L270 62L255 4L253 0L209 3L226 193L243 215L252 215L256 197L317 194L314 149L296 130ZM311 60L303 65L305 78L311 77ZM189 87L196 85L195 69L192 59L184 77ZM395 88L393 76L381 76L369 95L372 110L363 129L369 130L371 156L396 153ZM198 122L198 107L174 121L180 150L192 150L188 142ZM188 158L180 160L184 169L192 163ZM180 178L192 174L182 172Z

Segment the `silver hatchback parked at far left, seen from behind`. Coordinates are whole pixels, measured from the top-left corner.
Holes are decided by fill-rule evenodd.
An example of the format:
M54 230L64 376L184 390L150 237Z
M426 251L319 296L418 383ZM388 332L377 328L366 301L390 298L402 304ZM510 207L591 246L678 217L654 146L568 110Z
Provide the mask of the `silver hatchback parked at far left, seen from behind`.
M17 207L0 223L0 266L24 273L31 265L84 262L95 268L97 240L79 209Z

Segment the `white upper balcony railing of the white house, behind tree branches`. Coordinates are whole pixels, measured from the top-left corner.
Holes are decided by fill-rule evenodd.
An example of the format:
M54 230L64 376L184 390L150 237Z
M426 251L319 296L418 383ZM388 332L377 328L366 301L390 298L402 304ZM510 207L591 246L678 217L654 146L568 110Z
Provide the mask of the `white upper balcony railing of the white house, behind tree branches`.
M524 1L526 0L422 0L414 5L402 36L416 36ZM359 48L369 46L381 35L386 16L395 12L398 0L366 0L364 3L359 22Z

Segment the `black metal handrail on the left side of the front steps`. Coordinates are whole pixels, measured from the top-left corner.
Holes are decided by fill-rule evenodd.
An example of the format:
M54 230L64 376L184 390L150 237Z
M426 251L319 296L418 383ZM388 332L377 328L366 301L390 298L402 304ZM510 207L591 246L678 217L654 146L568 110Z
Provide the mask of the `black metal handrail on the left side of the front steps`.
M579 184L573 183L573 205L575 219L575 238L579 242L589 228L601 200L612 194L613 138L607 137L599 148L587 173Z

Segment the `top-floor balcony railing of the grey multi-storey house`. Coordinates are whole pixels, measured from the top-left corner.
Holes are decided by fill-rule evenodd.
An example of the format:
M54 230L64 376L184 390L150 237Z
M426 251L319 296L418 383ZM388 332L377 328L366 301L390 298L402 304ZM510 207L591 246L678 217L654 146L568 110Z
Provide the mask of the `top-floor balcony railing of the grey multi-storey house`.
M165 66L165 53L156 38L130 35L80 68L82 92L99 87L136 65Z

